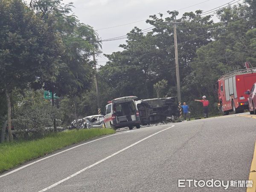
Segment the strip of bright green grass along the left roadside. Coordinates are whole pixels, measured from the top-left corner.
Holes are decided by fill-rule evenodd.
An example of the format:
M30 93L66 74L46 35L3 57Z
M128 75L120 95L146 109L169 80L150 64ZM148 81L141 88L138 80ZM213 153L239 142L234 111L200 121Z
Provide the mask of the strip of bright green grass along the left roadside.
M2 143L0 144L0 173L68 145L113 133L115 133L113 129L82 129L52 133L39 140Z

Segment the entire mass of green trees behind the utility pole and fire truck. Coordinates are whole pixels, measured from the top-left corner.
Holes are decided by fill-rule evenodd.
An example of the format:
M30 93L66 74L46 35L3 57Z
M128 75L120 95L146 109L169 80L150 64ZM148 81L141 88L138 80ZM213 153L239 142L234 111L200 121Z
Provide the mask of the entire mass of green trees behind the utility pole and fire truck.
M181 96L197 116L202 114L200 103L194 99L206 95L210 113L217 114L218 96L213 88L218 78L235 68L244 68L244 62L256 67L256 1L246 0L236 6L218 11L220 22L203 11L186 12L177 22L177 40ZM168 81L168 96L177 94L173 24L178 12L151 15L146 21L154 28L143 34L134 27L129 32L124 50L113 52L109 62L100 68L100 78L107 84L109 99L136 95L139 99L154 98L154 84Z

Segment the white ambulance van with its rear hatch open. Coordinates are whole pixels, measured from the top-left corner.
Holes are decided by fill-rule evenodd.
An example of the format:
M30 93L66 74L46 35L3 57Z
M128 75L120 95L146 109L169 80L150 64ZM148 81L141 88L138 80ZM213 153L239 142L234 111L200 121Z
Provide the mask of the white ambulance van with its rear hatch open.
M134 99L137 99L137 96L121 97L109 101L104 112L105 128L140 128L139 111Z

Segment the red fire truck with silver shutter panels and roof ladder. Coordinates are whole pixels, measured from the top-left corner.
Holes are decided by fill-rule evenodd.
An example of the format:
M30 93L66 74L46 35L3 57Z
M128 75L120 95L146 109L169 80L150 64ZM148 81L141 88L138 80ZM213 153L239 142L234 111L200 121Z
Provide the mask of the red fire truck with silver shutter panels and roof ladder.
M218 79L218 105L221 113L242 113L248 109L248 95L244 92L250 90L255 82L256 68L235 70L221 76Z

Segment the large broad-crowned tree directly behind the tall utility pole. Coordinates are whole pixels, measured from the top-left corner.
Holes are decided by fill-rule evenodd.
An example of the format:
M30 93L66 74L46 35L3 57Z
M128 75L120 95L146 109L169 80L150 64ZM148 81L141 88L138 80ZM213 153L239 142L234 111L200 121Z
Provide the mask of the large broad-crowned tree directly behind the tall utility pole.
M167 89L176 94L175 48L173 26L168 24L178 12L151 15L146 22L153 27L145 34L134 27L127 34L126 44L119 45L124 50L113 52L109 62L101 67L100 73L115 96L136 95L141 99L154 97L154 84L162 79L168 81ZM212 41L209 29L213 28L210 16L201 17L202 11L183 14L182 24L177 26L180 79L190 72L190 61L196 58L196 49ZM173 91L175 90L175 91Z

